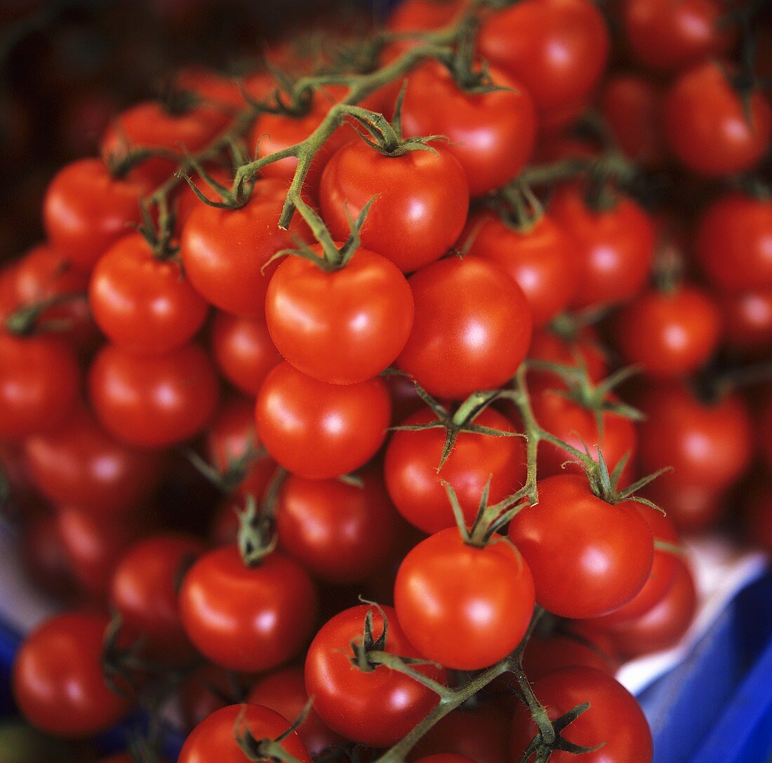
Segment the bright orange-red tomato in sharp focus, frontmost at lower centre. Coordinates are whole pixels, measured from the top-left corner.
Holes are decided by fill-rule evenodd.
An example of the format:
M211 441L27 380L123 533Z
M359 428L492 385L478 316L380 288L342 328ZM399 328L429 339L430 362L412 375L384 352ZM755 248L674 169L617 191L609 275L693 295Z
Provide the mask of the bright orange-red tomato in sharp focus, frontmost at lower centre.
M484 548L447 528L401 563L394 609L410 643L429 660L480 670L509 654L533 615L533 578L510 543Z

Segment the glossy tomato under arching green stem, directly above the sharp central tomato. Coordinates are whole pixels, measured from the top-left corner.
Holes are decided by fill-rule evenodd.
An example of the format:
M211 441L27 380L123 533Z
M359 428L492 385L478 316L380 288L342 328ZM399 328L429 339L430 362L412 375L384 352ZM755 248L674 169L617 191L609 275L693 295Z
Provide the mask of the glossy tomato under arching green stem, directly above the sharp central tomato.
M356 219L375 196L361 230L363 248L403 272L442 257L466 221L469 185L448 147L438 141L428 147L394 157L360 140L340 147L324 167L319 188L322 217L334 238L348 238L346 213Z

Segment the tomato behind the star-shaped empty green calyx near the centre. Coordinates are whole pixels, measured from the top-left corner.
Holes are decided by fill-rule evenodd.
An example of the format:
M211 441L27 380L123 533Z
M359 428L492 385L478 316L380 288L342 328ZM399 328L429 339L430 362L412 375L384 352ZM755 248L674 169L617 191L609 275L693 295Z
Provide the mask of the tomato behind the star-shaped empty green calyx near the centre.
M401 424L429 424L435 419L432 411L423 408ZM503 432L516 431L510 420L491 408L483 410L474 423ZM489 477L491 504L512 495L525 481L523 437L493 437L463 431L438 473L445 434L444 427L401 430L394 432L386 447L384 476L391 500L411 525L424 532L455 527L442 481L452 485L470 525Z

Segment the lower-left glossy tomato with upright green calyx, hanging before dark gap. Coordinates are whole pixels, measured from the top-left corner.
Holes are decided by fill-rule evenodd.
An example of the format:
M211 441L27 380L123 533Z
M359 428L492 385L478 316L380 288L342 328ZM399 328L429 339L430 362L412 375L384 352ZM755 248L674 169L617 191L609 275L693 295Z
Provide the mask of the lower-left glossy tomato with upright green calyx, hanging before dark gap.
M317 616L317 593L300 565L273 552L256 567L236 545L205 553L180 589L185 633L213 663L258 672L300 651Z

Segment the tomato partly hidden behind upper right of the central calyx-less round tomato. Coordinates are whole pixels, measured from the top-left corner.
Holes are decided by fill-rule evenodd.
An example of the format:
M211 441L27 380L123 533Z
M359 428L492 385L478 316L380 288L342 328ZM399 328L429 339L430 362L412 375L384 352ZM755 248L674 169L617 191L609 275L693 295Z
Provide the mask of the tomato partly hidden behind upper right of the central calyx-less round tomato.
M472 215L466 231L476 231L467 254L497 262L523 290L534 328L567 308L577 290L574 247L549 214L530 230L518 231L495 213L481 211Z

